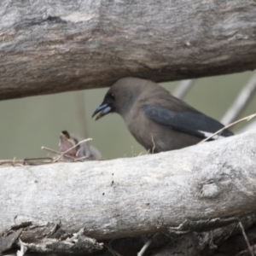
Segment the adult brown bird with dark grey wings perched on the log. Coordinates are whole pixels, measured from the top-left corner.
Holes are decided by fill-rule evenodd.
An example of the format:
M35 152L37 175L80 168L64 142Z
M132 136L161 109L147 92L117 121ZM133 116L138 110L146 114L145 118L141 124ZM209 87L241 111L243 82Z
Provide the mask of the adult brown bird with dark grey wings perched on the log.
M189 147L224 128L216 119L147 79L119 79L108 90L92 118L119 113L137 142L151 153ZM218 136L234 135L225 129Z

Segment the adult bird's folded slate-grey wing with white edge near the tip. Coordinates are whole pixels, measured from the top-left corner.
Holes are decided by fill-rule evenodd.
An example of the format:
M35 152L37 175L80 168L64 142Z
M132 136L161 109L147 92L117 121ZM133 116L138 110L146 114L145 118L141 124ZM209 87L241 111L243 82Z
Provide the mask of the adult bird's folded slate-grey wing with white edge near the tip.
M154 105L144 105L143 111L149 119L160 125L201 138L209 137L212 133L224 127L217 120L200 112L174 111ZM224 130L221 133L221 137L229 137L231 135L233 133L229 130Z

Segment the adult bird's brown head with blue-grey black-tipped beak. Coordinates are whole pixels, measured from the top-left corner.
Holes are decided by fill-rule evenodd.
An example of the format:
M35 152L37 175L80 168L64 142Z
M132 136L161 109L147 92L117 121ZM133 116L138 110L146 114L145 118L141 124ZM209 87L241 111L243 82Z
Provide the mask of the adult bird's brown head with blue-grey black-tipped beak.
M96 120L102 118L107 113L113 112L119 113L124 117L125 113L130 111L133 103L142 91L141 84L138 83L140 80L142 79L119 79L109 88L102 104L92 114L92 118L97 113L99 114L96 116Z

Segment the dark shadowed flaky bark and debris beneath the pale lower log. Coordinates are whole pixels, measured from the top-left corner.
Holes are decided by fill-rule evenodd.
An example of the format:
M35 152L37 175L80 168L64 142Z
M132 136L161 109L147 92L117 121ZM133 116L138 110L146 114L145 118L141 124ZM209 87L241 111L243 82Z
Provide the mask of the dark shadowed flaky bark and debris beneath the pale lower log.
M242 218L241 223L247 232L247 239L250 245L253 245L255 253L256 217L253 215ZM49 228L50 224L47 226ZM60 236L58 229L44 233L46 226L41 226L40 230L39 226L25 223L23 228L22 230L21 226L13 226L5 234L0 234L0 252L4 252L4 247L1 247L1 240L5 241L5 244L8 241L9 244L13 242L13 245L15 245L17 232L22 230L21 241L30 252L28 255L31 256L40 256L41 253L46 255L54 253L54 255L61 256L90 255L91 253L98 256L134 256L138 255L148 239L151 239L152 242L146 252L143 253L144 256L251 256L248 253L245 237L241 235L241 228L237 223L203 233L178 234L178 232L171 230L162 234L155 234L152 238L139 236L101 243L86 238L83 235L83 230L80 230L77 234ZM32 230L34 231L32 232ZM27 236L28 234L30 236ZM9 251L7 254L3 253L3 255L16 256L17 254L15 251Z

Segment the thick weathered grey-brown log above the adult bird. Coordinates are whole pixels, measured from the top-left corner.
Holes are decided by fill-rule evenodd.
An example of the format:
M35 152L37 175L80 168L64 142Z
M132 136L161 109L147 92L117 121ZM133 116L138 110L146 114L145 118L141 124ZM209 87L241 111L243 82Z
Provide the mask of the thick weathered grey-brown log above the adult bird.
M256 67L255 0L1 0L0 24L0 99Z

